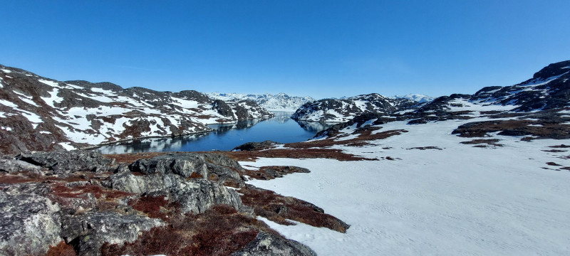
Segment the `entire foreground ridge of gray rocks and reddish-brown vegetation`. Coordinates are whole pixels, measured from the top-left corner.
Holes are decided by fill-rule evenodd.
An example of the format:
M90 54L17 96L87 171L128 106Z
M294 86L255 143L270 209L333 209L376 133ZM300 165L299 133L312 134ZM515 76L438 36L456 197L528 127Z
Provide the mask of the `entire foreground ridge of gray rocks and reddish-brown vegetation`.
M222 154L125 159L135 156L4 155L0 255L314 255L255 215L349 227L311 203L246 185L242 166Z

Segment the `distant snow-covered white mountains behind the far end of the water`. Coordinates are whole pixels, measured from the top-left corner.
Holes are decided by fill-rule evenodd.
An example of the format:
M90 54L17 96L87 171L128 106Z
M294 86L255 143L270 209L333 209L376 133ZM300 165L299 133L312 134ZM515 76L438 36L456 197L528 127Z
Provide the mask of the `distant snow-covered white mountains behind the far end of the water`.
M284 93L276 95L261 94L261 95L247 95L241 93L222 93L222 92L207 92L206 95L212 99L234 101L234 100L253 100L261 107L271 111L289 111L294 112L296 109L306 102L311 102L314 99L309 96L289 96Z

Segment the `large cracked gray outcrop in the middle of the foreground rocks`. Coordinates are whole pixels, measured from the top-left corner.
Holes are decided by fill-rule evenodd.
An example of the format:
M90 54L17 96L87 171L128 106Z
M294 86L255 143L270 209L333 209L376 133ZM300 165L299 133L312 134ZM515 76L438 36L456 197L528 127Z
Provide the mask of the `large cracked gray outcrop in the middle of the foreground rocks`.
M234 169L241 169L236 161L215 154L168 154L152 159L139 159L129 166L130 171L119 172L105 183L110 188L128 193L155 193L180 203L183 213L204 213L215 204L232 206L251 212L242 204L239 195L224 183L242 186L244 178ZM211 173L210 173L211 172ZM212 180L205 178L212 177Z

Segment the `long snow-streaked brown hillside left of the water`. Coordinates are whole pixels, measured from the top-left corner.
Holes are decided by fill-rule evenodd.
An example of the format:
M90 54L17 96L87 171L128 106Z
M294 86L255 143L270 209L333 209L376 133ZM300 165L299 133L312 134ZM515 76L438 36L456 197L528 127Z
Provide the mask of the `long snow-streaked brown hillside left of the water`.
M0 65L0 151L73 149L142 137L211 131L206 124L272 117L252 100L200 92L61 82Z

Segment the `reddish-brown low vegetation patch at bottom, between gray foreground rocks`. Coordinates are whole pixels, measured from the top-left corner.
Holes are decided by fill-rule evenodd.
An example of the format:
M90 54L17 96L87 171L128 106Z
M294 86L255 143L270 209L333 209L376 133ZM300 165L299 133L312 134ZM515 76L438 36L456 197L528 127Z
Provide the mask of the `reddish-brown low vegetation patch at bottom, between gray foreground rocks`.
M279 235L260 220L216 205L202 214L176 214L167 226L142 232L135 242L105 243L102 255L232 255L259 232Z

